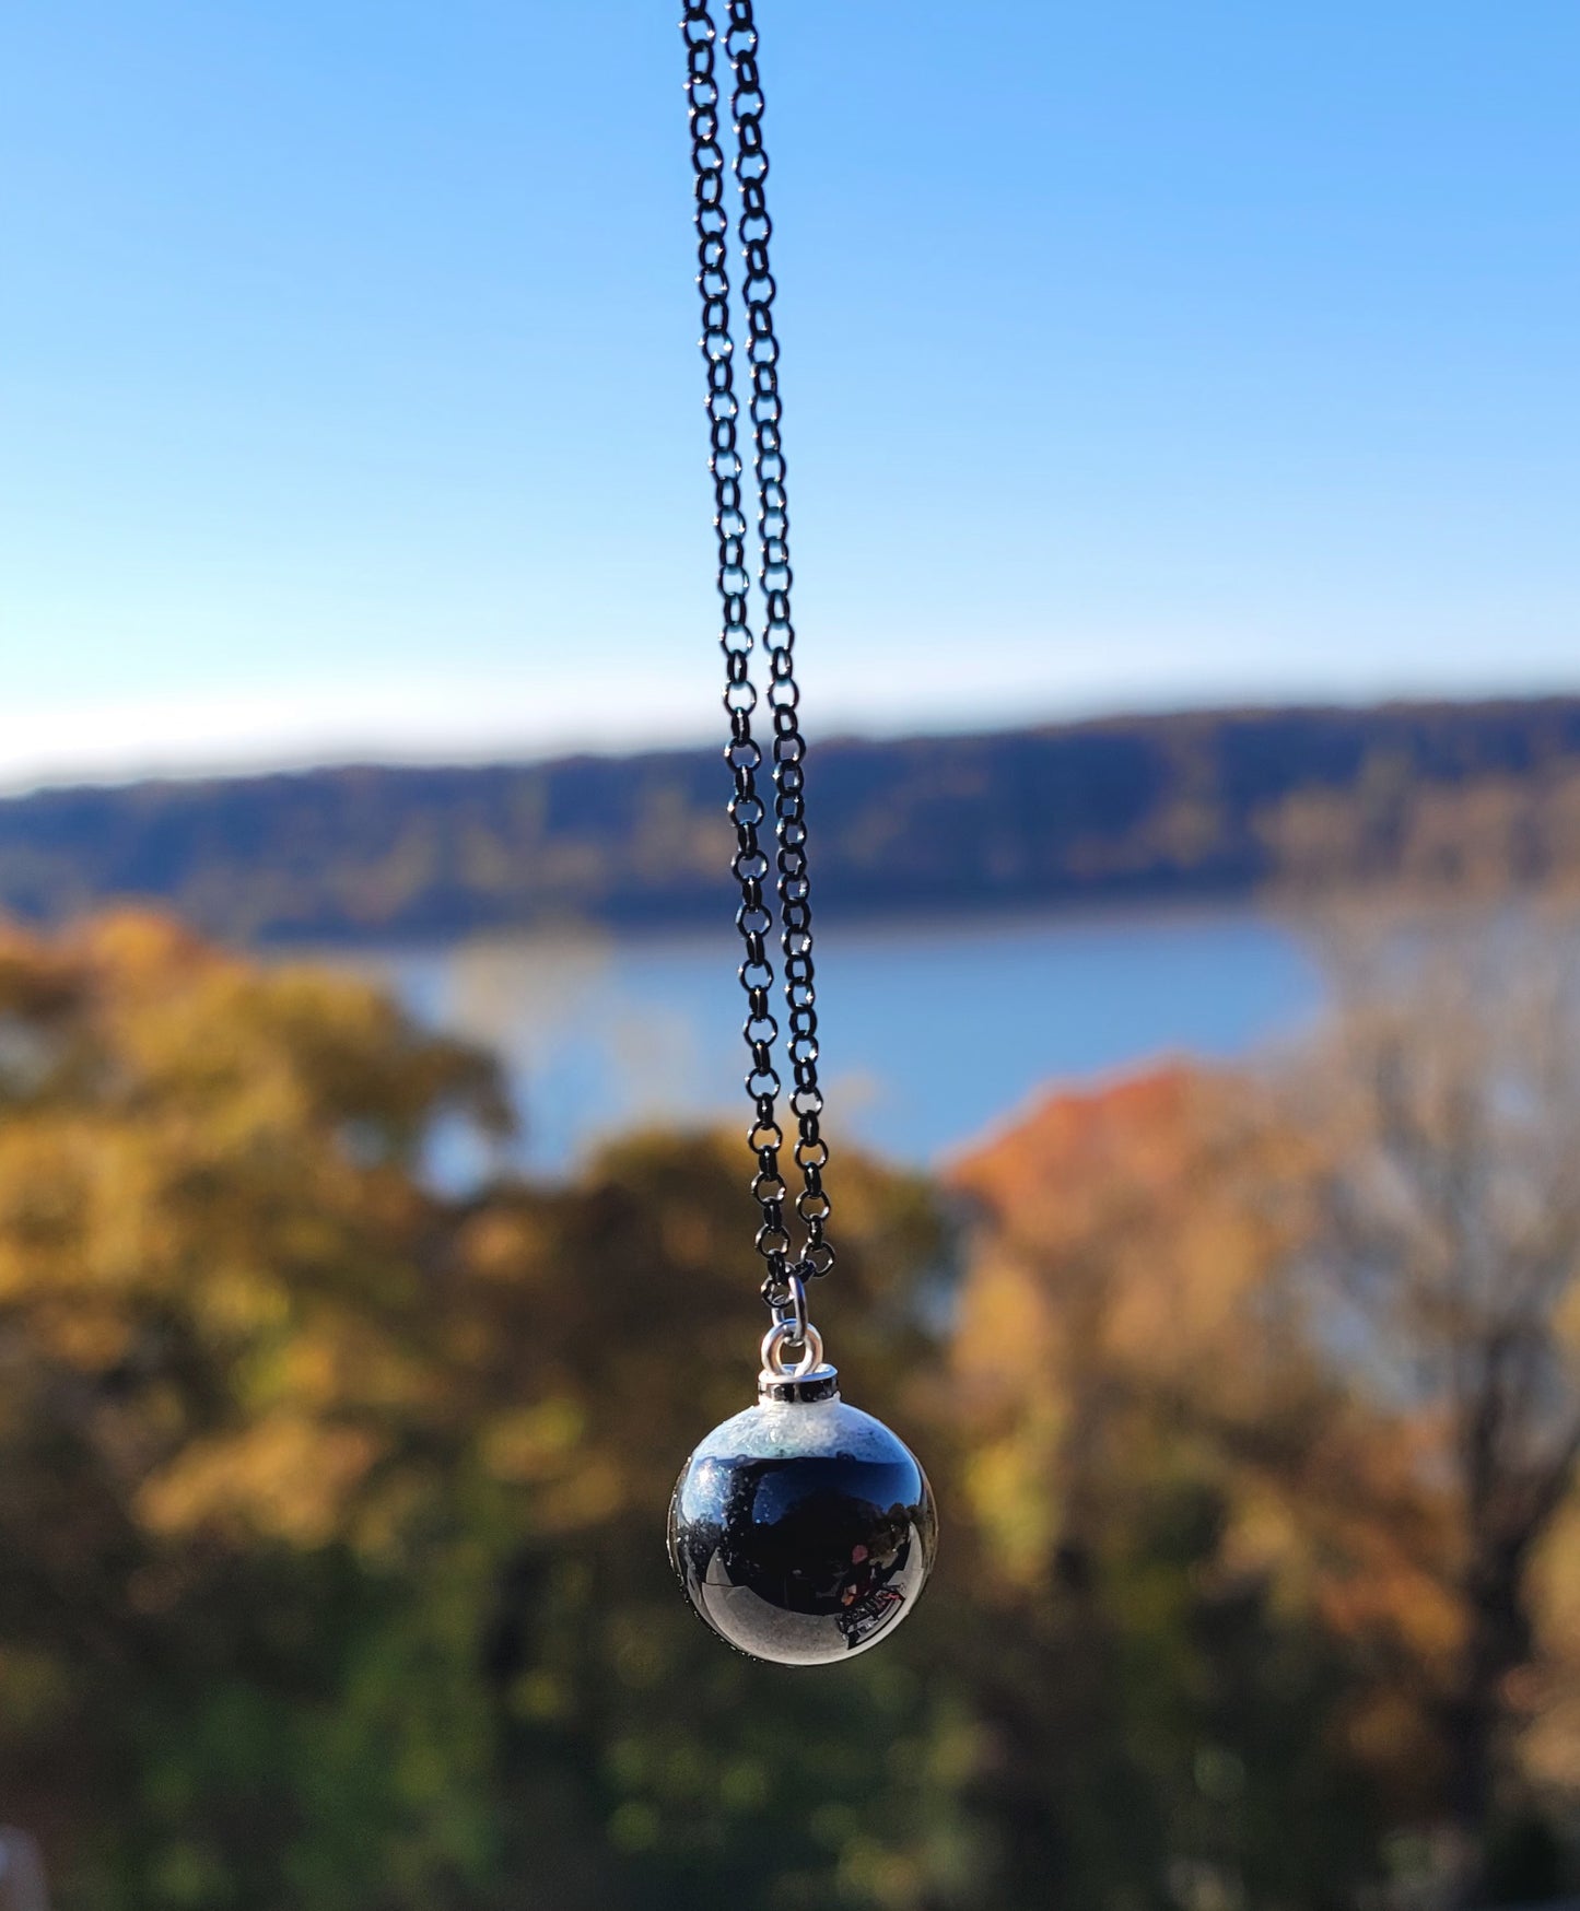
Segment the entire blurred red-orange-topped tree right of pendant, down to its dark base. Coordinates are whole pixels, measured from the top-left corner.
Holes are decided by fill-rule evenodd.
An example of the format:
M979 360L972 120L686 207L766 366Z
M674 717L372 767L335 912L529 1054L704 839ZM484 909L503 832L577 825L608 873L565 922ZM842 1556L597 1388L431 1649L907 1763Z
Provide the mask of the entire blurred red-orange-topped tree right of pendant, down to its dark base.
M1421 1584L1414 1508L1362 1517L1355 1475L1412 1483L1280 1282L1305 1160L1257 1084L1175 1066L1053 1095L951 1175L976 1215L967 1483L1005 1613L974 1680L1022 1894L1343 1901L1408 1789L1421 1722L1406 1697L1370 1756L1391 1691L1368 1659Z

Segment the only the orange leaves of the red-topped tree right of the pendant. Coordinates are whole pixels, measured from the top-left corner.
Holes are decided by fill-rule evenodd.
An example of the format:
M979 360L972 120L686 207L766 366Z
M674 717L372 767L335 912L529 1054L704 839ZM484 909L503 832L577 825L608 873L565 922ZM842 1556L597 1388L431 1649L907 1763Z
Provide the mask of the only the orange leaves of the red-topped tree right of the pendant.
M1431 1429L1345 1384L1303 1299L1314 1166L1255 1082L1183 1064L1051 1095L961 1158L967 1483L1034 1586L1057 1548L1100 1550L1139 1485L1209 1479L1215 1571L1387 1659L1351 1729L1408 1762L1460 1636L1450 1527Z

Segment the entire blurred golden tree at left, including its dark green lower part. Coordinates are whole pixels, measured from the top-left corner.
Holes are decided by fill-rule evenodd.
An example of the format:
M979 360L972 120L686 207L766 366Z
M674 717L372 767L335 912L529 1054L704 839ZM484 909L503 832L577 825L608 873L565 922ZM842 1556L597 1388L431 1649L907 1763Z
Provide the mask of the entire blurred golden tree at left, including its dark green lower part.
M67 1907L292 1896L355 1548L439 1428L447 1110L501 1120L489 1063L352 978L0 940L0 1785Z

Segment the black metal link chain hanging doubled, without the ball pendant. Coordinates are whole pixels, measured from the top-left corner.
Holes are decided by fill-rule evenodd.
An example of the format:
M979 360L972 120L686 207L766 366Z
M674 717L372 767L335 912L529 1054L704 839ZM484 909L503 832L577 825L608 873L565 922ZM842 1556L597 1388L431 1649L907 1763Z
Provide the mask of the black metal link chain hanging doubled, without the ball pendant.
M787 1187L779 1173L779 1072L774 1043L779 1024L772 1013L774 965L768 934L774 927L764 896L768 852L758 835L766 810L757 793L762 749L753 738L757 686L751 680L753 629L747 571L747 518L741 501L741 453L736 432L734 342L730 336L730 214L724 204L724 149L718 140L720 92L715 73L716 32L709 0L688 4L680 21L686 40L686 96L692 117L692 168L697 201L697 287L703 300L701 350L707 365L711 420L709 470L713 472L715 529L718 533L718 596L724 606L724 709L730 743L724 761L734 774L730 820L736 826L732 870L741 885L736 927L745 959L739 977L747 998L745 1041L751 1053L747 1095L755 1103L749 1145L757 1154L751 1191L762 1210L757 1252L768 1265L762 1298L770 1307L791 1303L797 1282L833 1267L825 1238L829 1198L823 1168L829 1147L822 1137L823 1093L818 1087L818 992L812 967L812 896L806 868L804 762L801 690L795 680L795 625L791 623L789 508L785 453L779 436L779 340L774 333L774 273L768 241L768 153L762 143L762 80L757 69L757 23L751 0L726 0L726 50L736 75L732 118L736 128L734 174L739 187L739 243L745 258L747 365L751 369L753 470L757 478L758 587L764 600L762 648L768 654L768 707L774 713L774 892L783 952L783 986L789 1017L785 1053L795 1074L789 1110L797 1122L795 1160L802 1189L795 1200L804 1229L802 1248L791 1254L785 1227Z

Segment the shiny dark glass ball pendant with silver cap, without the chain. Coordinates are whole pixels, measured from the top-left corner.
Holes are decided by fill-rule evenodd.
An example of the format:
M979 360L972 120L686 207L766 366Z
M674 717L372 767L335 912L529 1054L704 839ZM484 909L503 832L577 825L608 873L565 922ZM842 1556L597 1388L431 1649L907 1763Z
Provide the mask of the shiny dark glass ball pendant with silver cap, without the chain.
M877 1645L915 1605L938 1550L932 1489L898 1435L841 1401L833 1368L764 1380L762 1395L682 1468L669 1557L730 1645L831 1664Z

